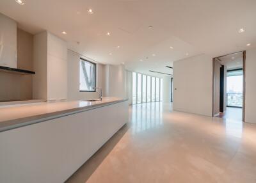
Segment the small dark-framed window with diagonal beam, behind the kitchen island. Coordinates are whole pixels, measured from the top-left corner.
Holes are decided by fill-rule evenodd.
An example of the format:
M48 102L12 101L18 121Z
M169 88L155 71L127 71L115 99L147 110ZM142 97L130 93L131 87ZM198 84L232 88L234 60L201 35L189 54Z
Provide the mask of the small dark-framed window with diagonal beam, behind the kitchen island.
M83 92L95 92L96 64L86 60L80 60L79 90Z

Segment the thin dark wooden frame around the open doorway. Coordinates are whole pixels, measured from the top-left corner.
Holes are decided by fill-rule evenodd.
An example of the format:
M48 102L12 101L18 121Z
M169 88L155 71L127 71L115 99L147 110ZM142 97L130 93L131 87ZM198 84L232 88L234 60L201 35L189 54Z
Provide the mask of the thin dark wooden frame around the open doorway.
M245 86L246 86L246 83L245 83L245 78L246 78L246 51L239 51L239 52L243 52L243 122L245 121ZM233 53L230 53L230 54L236 54L236 53L239 53L239 52L233 52ZM225 54L223 56L227 56L227 55L230 55L230 54ZM214 57L212 58L212 117L214 116L214 60L216 58L220 58L220 57L223 57L223 56L217 56L217 57Z

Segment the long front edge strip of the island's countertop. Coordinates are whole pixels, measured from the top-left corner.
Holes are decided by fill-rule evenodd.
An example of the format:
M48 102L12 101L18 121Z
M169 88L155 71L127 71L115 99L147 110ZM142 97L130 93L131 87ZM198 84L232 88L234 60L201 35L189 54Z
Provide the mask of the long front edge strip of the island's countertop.
M0 132L10 131L12 129L17 129L17 128L28 126L28 125L33 125L35 123L45 122L45 121L52 120L55 118L61 118L63 116L74 115L76 113L82 113L84 111L90 111L92 109L109 106L109 105L120 103L120 102L125 102L127 100L128 99L120 99L120 100L115 100L115 101L111 101L111 102L104 102L103 104L95 104L92 106L85 106L85 107L76 107L76 108L72 108L72 109L65 109L62 111L56 111L53 113L46 113L46 114L42 114L42 115L29 116L26 118L8 120L8 121L0 123Z

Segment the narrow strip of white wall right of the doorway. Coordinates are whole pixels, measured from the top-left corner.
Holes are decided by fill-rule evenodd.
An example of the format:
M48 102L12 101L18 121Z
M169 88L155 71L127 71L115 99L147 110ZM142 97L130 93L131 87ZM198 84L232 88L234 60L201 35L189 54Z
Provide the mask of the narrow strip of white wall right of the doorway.
M246 51L245 122L256 123L256 49Z

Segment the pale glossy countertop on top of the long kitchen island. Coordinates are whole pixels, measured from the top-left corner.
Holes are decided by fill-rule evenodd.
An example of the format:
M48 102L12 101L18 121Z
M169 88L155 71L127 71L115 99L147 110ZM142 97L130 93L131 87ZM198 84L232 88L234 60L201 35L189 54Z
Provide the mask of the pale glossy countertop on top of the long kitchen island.
M43 122L52 118L59 118L72 113L79 113L102 106L108 106L125 100L127 99L104 97L102 100L95 102L75 100L69 102L40 102L17 106L1 106L0 132Z

